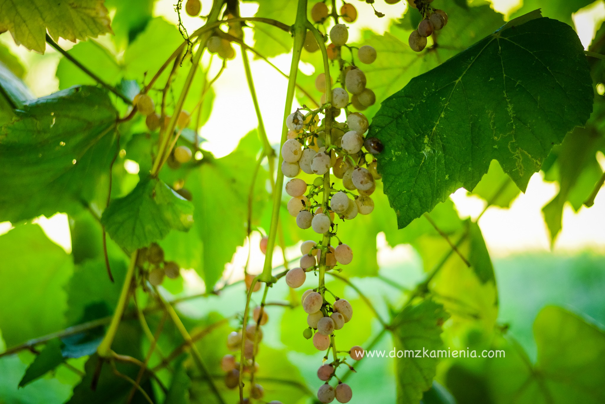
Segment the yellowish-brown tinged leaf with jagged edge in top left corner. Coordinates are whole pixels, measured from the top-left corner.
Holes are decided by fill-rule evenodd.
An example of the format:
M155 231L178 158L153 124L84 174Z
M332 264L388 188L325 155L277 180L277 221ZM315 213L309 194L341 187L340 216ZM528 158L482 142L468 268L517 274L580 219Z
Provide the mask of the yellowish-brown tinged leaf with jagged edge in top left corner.
M10 31L17 45L44 53L46 30L57 41L76 42L111 33L104 0L2 0L0 32Z

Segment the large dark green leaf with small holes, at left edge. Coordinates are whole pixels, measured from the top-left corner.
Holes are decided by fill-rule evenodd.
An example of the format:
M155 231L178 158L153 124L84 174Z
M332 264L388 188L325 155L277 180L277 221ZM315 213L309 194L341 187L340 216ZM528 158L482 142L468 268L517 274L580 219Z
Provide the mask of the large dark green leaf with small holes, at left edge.
M0 127L0 220L79 210L116 153L110 98L97 87L72 87L15 113Z

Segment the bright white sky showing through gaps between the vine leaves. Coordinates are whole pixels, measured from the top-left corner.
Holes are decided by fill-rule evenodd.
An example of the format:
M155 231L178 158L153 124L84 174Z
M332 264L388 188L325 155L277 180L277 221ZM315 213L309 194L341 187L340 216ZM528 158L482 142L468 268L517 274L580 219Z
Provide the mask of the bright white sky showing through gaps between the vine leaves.
M155 15L163 16L171 22L177 22L173 3L174 0L157 1ZM202 10L209 10L211 1L204 0L202 3ZM508 15L518 8L520 0L493 0L492 4L495 10ZM387 6L382 0L377 0L376 8L387 15L381 19L376 18L372 12L362 12L361 9L365 6L361 2L356 3L360 13L354 27L367 27L382 33L388 28L391 18L398 18L402 15L405 2ZM257 7L257 4L244 2L241 14L253 15ZM370 6L367 5L367 7ZM578 35L584 46L587 47L595 30L605 19L605 1L597 1L580 10L573 16L573 19ZM183 22L190 31L200 25L200 19L189 16L184 16ZM351 41L358 39L358 32L358 30L352 30ZM11 50L28 65L25 82L36 96L44 96L57 90L58 82L54 78L54 70L59 62L59 56L56 53L50 50L44 56L30 53L22 47L15 47L14 44L11 44L12 41L7 34L0 36L0 42L9 45ZM60 41L60 44L65 48L73 46L67 41ZM214 88L217 95L214 100L214 109L211 118L201 130L201 136L208 139L204 148L219 157L229 154L237 145L240 137L257 126L257 118L247 91L241 57L237 49L236 52L237 57L228 62L227 70L215 82ZM281 70L288 71L290 55L278 56L273 58L272 62ZM267 134L273 144L278 144L287 81L262 60L252 60L251 68ZM306 68L312 69L312 67ZM230 118L234 113L238 114L237 125L234 125L233 119ZM601 156L600 164L605 169L605 157ZM528 250L548 251L550 249L549 236L541 216L541 208L555 196L557 190L557 184L545 182L541 174L537 173L532 177L526 193L517 197L510 209L489 208L480 219L479 224L491 254L506 256ZM477 217L485 207L485 202L479 198L466 196L465 190L457 191L453 195L453 200L461 216ZM64 247L66 251L71 251L67 216L56 214L51 219L41 217L36 219L36 222L44 228L54 242ZM0 223L0 234L10 228L10 224ZM384 244L384 241L381 242L381 240L383 238L379 237L379 244ZM258 240L252 241L255 245L257 242ZM578 213L574 213L569 205L565 207L563 231L555 243L554 250L577 251L586 248L605 251L605 192L599 194L592 208L583 207ZM244 250L247 249L242 249L240 253L236 254L234 262L228 265L227 269L240 265L242 258L240 255L244 256ZM388 250L388 248L382 245L382 250ZM254 261L252 260L252 262Z

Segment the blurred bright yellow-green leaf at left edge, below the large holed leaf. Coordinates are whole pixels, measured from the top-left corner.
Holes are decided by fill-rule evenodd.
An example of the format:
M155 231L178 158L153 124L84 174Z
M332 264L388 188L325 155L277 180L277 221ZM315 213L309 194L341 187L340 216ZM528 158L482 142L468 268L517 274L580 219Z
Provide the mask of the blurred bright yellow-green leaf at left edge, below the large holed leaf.
M70 256L38 225L21 225L0 236L0 256L0 329L7 345L61 329Z

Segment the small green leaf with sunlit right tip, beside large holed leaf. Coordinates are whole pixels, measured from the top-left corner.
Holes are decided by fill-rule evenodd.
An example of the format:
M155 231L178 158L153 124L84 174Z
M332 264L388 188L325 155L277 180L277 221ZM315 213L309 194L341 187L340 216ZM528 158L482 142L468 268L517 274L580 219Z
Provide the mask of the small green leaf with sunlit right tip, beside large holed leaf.
M193 205L162 180L145 177L131 193L110 203L101 223L120 247L134 251L163 239L171 229L188 231Z

